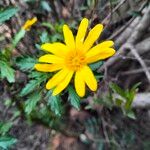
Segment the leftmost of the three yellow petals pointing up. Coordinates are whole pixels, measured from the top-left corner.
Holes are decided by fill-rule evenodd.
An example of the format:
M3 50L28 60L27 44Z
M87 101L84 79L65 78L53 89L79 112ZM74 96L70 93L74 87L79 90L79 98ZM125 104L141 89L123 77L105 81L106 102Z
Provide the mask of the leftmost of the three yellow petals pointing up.
M64 39L67 47L69 49L74 50L75 49L75 41L72 34L72 31L69 29L67 25L63 26L63 33L64 33Z

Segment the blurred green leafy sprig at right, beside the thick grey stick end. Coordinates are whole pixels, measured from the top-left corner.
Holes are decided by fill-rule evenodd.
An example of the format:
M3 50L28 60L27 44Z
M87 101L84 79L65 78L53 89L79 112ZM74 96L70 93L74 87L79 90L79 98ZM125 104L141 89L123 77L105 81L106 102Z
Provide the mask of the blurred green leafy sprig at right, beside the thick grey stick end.
M140 83L135 84L131 89L122 89L115 83L110 83L109 92L102 98L95 98L94 103L104 105L109 109L117 106L121 108L124 116L136 119L132 110L132 103L138 91ZM91 108L91 106L87 106Z

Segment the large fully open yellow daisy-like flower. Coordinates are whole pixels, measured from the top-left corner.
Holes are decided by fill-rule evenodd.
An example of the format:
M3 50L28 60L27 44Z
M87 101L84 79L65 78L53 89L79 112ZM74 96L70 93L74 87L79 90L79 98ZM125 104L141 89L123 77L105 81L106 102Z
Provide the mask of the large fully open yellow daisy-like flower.
M88 66L91 63L103 60L114 55L115 50L111 48L113 41L105 41L94 47L92 45L99 38L103 25L97 24L90 30L87 37L88 19L84 18L74 38L72 31L67 25L63 26L65 44L45 43L41 48L50 54L39 58L36 70L42 72L58 71L46 84L46 89L53 89L53 96L62 92L70 83L74 75L74 85L80 97L85 95L85 85L92 91L97 90L97 81ZM45 64L42 64L45 63Z

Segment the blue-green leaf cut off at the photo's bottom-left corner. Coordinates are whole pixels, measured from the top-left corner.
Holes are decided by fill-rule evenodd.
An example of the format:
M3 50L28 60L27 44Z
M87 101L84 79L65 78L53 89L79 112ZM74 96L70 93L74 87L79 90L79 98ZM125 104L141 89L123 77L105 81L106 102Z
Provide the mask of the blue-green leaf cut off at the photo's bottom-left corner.
M11 145L15 144L17 140L12 137L0 137L0 148L7 150Z

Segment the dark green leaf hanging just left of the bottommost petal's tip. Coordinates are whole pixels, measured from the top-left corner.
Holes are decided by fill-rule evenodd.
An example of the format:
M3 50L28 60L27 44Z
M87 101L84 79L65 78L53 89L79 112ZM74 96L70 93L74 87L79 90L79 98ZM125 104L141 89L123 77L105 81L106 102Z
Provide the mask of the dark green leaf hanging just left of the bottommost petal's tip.
M68 100L70 101L71 105L75 107L77 110L80 110L80 101L81 101L80 97L77 95L72 86L68 86L68 92L69 92Z

